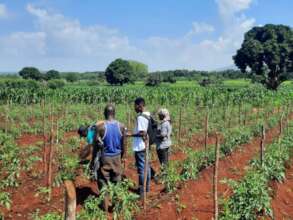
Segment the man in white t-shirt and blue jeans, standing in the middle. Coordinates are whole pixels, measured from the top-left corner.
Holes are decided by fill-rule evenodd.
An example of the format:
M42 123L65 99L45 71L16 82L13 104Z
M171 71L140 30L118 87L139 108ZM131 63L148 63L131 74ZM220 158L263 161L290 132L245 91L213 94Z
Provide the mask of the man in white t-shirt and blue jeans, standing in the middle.
M136 119L135 128L133 134L128 136L133 137L133 151L135 156L135 165L138 173L138 183L139 183L139 194L140 197L144 196L144 169L145 169L145 154L146 154L146 145L148 145L148 135L147 130L149 126L150 113L145 110L145 100L141 97L135 99L134 109L138 114ZM148 164L147 168L147 181L146 181L146 192L149 192L150 189L150 166Z

